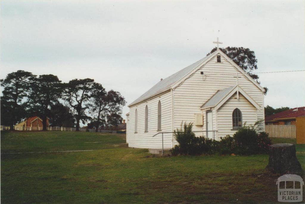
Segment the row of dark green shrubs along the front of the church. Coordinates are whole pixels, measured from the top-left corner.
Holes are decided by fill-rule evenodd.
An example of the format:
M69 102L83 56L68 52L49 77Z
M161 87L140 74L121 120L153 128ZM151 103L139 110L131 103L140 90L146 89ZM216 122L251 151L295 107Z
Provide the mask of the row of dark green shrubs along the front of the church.
M174 131L174 138L179 145L175 145L170 151L172 155L215 153L251 155L268 153L271 139L266 132L258 133L256 124L246 126L246 123L244 123L243 127L233 137L227 135L224 138L221 137L220 141L216 141L202 136L196 137L195 133L192 132L192 123L181 123L181 128Z

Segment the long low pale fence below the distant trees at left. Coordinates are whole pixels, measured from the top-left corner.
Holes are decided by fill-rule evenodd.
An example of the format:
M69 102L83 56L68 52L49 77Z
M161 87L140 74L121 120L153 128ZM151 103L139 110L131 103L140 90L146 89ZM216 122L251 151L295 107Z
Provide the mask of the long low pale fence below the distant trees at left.
M0 130L9 130L9 126L0 126ZM20 131L39 131L42 130L42 127L14 127L14 130ZM76 128L65 128L65 127L47 127L48 131L76 131ZM87 129L87 128L79 128L81 132L95 132L95 129ZM109 132L109 133L117 133L117 131L113 130L101 130L98 129L98 132Z

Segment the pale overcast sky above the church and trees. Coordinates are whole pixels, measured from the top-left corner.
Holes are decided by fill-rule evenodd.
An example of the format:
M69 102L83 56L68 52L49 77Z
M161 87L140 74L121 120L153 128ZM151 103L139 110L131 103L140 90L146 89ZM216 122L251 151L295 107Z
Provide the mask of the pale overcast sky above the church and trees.
M0 74L93 78L130 104L205 57L217 37L253 50L256 72L304 70L304 2L1 0ZM305 106L305 72L259 76L265 106Z

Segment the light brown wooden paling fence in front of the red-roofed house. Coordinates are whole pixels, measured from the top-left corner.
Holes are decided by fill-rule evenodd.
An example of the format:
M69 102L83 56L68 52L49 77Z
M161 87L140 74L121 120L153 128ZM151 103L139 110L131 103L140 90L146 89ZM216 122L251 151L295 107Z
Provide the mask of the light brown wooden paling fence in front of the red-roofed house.
M265 132L269 133L270 137L296 138L295 125L265 125Z

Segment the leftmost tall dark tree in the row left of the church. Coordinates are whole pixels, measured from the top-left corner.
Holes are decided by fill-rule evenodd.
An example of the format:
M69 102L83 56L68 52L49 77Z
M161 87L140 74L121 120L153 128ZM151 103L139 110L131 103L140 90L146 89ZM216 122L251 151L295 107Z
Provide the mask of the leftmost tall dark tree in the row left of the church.
M34 78L35 75L31 72L18 70L0 80L1 86L4 87L1 97L1 123L9 125L10 130L26 115L26 98Z

